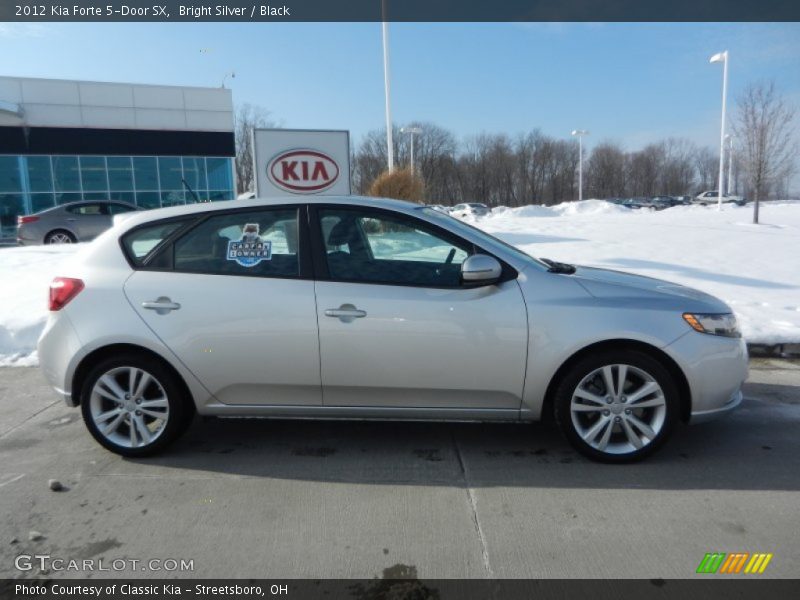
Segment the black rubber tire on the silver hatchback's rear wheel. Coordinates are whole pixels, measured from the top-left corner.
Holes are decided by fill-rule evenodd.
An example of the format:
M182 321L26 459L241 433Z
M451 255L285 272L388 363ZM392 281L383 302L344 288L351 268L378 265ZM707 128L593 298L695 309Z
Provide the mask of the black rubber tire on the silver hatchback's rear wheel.
M92 414L93 389L95 384L103 375L124 367L134 367L150 375L155 380L155 385L160 385L160 387L163 388L168 405L166 423L158 430L157 437L150 443L143 443L136 447L120 445L119 443L115 443L114 440L109 439L109 437L99 430ZM152 390L153 388L149 389ZM158 388L156 388L156 390L157 389ZM158 391L160 392L161 390ZM142 395L144 396L144 394ZM160 395L160 393L158 395ZM96 398L95 402L106 402L110 405L110 408L114 408L114 403L108 399ZM97 404L95 406L97 406ZM91 433L92 437L107 450L130 458L150 456L163 450L186 431L192 422L194 412L194 403L190 397L187 397L182 382L174 372L160 360L143 354L122 354L99 362L89 372L81 389L81 413L89 433ZM130 422L131 418L132 415L128 415L128 422ZM123 421L121 426L123 428L130 427L128 422ZM129 429L127 429L127 431L130 432Z

